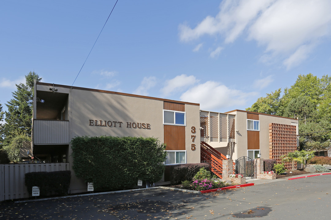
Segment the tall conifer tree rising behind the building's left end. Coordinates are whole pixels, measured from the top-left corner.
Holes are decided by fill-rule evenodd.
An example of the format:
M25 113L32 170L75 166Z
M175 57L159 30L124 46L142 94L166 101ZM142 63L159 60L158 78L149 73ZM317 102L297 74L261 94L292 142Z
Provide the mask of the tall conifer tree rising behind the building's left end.
M35 72L25 75L25 83L16 84L17 90L12 92L13 98L7 102L8 111L6 114L6 124L4 124L5 145L18 134L31 136L31 119L33 103L33 80L41 80Z

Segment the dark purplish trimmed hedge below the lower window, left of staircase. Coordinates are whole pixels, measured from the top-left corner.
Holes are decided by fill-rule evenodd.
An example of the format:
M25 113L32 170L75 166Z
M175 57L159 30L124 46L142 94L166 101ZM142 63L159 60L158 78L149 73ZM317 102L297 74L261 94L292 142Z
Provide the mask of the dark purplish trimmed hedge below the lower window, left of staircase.
M198 173L201 168L209 170L208 164L181 164L174 166L171 170L170 182L172 185L181 181L192 180L194 175Z

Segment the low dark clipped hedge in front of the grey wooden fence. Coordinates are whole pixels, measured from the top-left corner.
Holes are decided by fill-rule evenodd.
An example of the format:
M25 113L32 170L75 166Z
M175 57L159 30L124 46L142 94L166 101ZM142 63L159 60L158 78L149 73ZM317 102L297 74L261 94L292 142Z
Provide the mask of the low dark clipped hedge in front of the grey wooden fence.
M33 186L38 186L40 196L66 195L70 179L71 171L31 172L25 173L24 183L29 194L32 193Z

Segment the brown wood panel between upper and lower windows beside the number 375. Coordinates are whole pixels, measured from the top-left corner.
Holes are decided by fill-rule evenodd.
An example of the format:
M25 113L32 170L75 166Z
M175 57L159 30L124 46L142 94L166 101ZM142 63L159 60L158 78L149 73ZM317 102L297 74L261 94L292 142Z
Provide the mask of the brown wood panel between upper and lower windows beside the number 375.
M164 125L166 150L185 150L185 126Z

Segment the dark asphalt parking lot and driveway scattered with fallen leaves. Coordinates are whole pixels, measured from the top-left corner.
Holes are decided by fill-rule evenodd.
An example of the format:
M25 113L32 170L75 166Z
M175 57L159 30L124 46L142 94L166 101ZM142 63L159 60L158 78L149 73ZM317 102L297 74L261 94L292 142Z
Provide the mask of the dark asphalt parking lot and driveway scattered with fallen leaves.
M0 203L0 219L330 219L331 175L195 194L146 189Z

